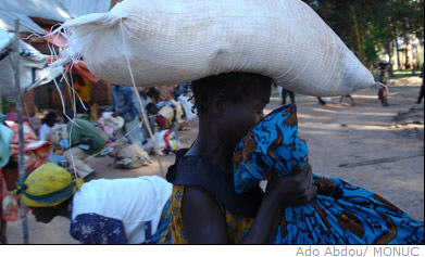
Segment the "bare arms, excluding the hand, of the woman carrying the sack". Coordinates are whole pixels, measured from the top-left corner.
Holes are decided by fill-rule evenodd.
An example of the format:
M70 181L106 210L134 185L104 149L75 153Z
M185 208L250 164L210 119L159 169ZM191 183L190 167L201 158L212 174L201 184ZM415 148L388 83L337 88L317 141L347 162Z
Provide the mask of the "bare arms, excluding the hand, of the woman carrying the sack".
M212 194L200 187L187 187L182 200L185 235L189 244L227 244L225 216ZM240 244L268 244L284 211L284 205L266 194L251 228Z

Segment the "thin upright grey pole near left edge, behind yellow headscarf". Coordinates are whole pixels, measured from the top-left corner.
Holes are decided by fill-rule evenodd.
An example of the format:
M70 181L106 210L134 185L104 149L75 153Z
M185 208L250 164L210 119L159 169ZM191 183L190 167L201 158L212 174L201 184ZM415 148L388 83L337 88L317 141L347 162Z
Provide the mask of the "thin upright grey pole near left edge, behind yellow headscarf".
M14 75L15 75L15 87L16 87L16 112L17 112L17 124L20 134L20 154L17 158L20 180L25 177L24 170L24 125L22 114L22 94L21 94L21 82L20 82L20 20L15 20L15 41L13 42L13 57L14 57ZM22 232L24 235L24 244L28 244L28 226L26 220L26 206L21 198L21 219L22 219Z

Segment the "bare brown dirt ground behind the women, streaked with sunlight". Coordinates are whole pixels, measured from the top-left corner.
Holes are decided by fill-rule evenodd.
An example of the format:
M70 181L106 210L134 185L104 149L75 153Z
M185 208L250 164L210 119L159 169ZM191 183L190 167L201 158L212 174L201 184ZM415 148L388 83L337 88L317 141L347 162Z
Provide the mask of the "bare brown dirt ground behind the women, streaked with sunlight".
M316 98L297 95L299 134L310 147L313 172L339 177L352 184L380 194L411 217L424 220L424 105L415 104L421 80L417 77L390 80L389 106L382 106L377 89L364 89L340 104L332 98L326 105ZM277 90L266 113L280 104ZM197 120L180 132L182 146L190 145L197 134ZM164 169L174 156L159 157ZM97 178L124 178L160 175L154 164L133 170L114 169L110 157L91 160ZM49 224L37 223L28 215L30 244L76 244L70 221L58 217ZM22 244L21 222L8 224L10 244Z

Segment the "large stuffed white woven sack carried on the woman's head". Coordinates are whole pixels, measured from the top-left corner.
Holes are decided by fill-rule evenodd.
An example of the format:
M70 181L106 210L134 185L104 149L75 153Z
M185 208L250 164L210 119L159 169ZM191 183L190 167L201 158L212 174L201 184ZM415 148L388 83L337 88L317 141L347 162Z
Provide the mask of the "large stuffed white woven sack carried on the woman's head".
M83 56L96 76L151 87L233 70L270 76L312 95L373 86L372 74L300 0L126 0L67 21L62 61Z

